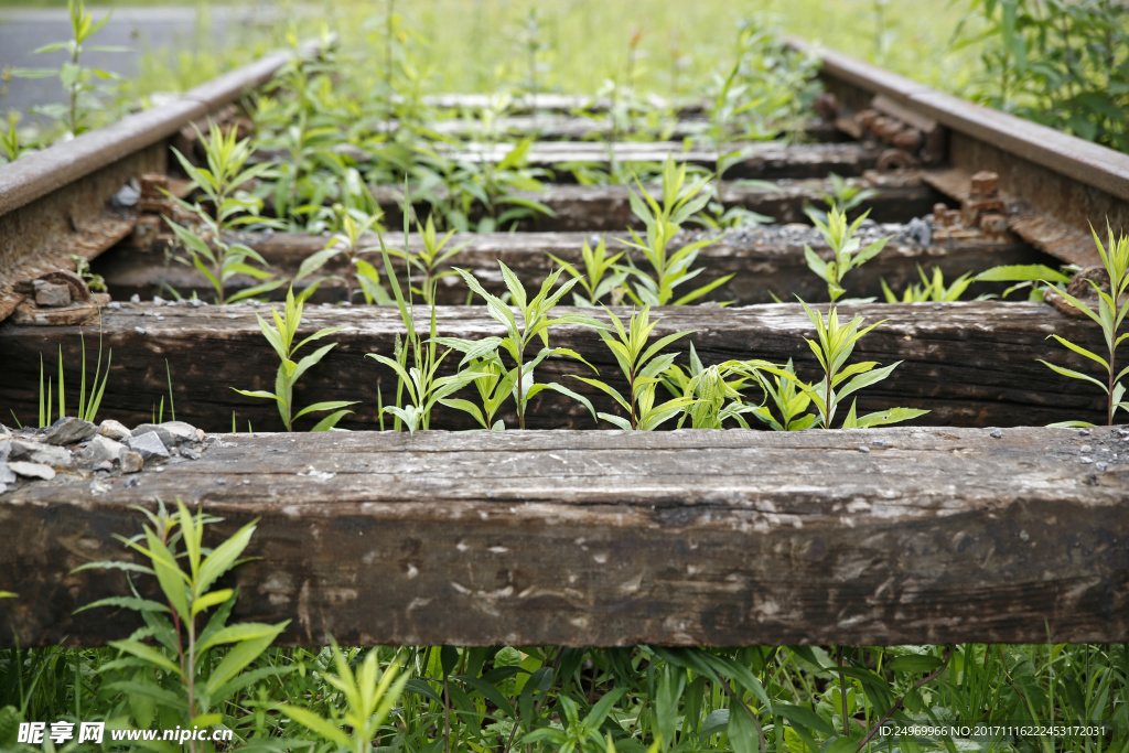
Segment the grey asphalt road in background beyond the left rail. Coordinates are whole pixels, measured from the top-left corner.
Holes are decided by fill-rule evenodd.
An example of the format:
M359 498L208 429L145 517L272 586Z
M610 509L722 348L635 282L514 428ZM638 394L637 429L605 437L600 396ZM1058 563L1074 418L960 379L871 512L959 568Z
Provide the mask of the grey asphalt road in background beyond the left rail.
M95 20L110 12L94 8ZM265 24L274 16L269 6L247 3L239 8L210 8L198 19L195 7L120 8L87 45L129 47L130 52L87 52L82 65L108 70L122 76L137 73L139 61L148 52L170 49L212 50L237 35L233 29L250 24ZM34 54L33 51L52 42L71 37L70 16L65 8L17 10L0 9L0 69L52 68L65 60L65 52ZM28 111L41 104L59 103L64 98L58 77L44 79L12 78L0 96L0 113L9 110Z

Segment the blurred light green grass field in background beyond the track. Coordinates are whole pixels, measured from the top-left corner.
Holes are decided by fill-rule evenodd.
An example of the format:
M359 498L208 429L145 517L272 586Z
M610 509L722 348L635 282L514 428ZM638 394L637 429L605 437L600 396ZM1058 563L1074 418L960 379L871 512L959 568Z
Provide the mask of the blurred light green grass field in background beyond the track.
M386 3L335 5L329 19L347 41L382 47L383 26L360 21ZM762 14L788 33L878 62L946 89L970 75L972 53L954 55L949 37L962 8L948 3L894 0L422 0L401 2L410 26L426 29L427 69L432 90L491 91L524 81L528 69L522 30L536 8L544 50L537 60L548 89L595 91L605 78L621 76L629 42L639 34L639 87L658 94L692 94L694 85L729 54L735 21ZM881 15L876 7L884 7ZM360 33L358 33L360 32ZM374 55L377 56L377 55ZM379 59L379 58L378 58ZM675 71L677 68L677 71Z

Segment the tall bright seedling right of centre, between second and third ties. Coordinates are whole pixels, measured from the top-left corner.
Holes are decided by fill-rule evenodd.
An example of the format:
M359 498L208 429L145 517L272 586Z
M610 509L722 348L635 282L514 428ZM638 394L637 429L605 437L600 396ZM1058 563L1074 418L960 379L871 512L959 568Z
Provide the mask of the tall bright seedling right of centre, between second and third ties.
M703 238L686 244L677 251L668 251L671 240L682 229L682 225L709 203L709 176L706 176L686 185L686 166L676 165L674 158L669 156L663 165L662 204L647 192L638 178L636 180L639 192L631 192L631 211L645 224L646 238L630 230L631 240L620 243L642 252L651 266L649 274L637 269L633 263L630 266L630 272L638 284L634 290L628 289L627 295L637 305L689 304L733 278L733 274L727 274L674 299L676 287L689 282L704 270L704 268L690 269L698 260L698 253L717 240L717 238Z

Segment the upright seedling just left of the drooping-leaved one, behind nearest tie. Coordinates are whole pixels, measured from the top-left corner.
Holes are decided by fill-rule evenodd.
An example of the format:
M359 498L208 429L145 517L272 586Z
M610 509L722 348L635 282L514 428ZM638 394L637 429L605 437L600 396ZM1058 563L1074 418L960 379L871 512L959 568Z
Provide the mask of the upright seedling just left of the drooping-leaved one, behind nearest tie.
M605 310L611 317L615 336L612 336L607 330L601 330L599 336L612 351L615 362L619 364L620 373L628 380L628 396L624 397L619 389L601 379L581 376L572 378L611 395L627 411L628 418L625 419L610 413L598 413L599 418L609 423L632 431L657 429L694 402L693 396L682 395L658 405L655 404L655 387L662 382L659 375L669 368L677 357L677 353L659 356L659 351L690 332L674 332L664 335L648 347L647 341L650 339L650 333L659 322L659 319L650 321L650 306L644 306L639 313L632 312L627 327L614 313L610 309Z

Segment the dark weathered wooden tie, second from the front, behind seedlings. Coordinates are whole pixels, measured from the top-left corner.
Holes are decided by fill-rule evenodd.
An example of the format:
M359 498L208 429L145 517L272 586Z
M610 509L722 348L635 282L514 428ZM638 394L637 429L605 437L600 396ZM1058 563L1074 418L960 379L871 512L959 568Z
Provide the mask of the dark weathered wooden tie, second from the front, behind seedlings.
M583 310L603 316L602 312ZM631 313L623 307L616 312L621 317L630 317ZM103 415L131 426L151 420L161 396L168 393L167 360L178 419L207 430L227 430L235 411L240 430L247 421L260 431L281 429L273 402L245 397L231 389L274 386L278 360L259 330L256 313L270 318L268 306L189 308L126 304L121 310L106 310L102 336L104 347L113 350L114 367L103 400ZM869 323L883 322L859 341L854 360L882 365L903 361L889 379L858 393L860 413L894 405L920 408L931 412L918 422L936 426L1104 421L1105 395L1101 391L1059 376L1036 360L1045 358L1089 371L1088 361L1047 340L1054 332L1102 351L1101 332L1088 321L1067 317L1040 303L843 305L840 314L859 314ZM426 308L420 307L417 322L426 326L428 316ZM674 347L683 353L680 362L685 362L692 342L706 365L752 358L782 364L791 358L802 378L817 378L819 367L804 342L805 336L814 336L814 329L798 304L744 308L680 306L657 309L654 316L660 318L651 335L656 340L666 333L693 332ZM437 323L439 334L445 336L476 340L505 333L483 306L439 307ZM367 306L307 307L300 332L312 334L326 326L344 327L331 336L340 344L303 376L295 400L299 405L325 400L361 401L353 406L356 415L349 417L343 426L376 428L378 391L384 404L390 404L396 383L391 371L365 354L393 354L395 340L404 332L399 312ZM88 327L91 373L96 339L97 330ZM599 369L605 380L625 389L611 352L593 330L562 326L553 331L551 344L578 351ZM0 414L9 415L9 410L15 410L24 422L32 419L38 400L41 353L51 364L60 345L69 369L67 384L73 391L79 383L81 359L79 336L73 329L0 325L0 352L5 354ZM534 352L531 348L528 356ZM445 367L453 368L455 362L450 358ZM537 378L562 382L589 394L597 410L616 412L610 399L567 376L585 373L586 367L577 361L552 358L539 367ZM507 426L516 426L513 413L500 417ZM303 421L298 428L308 428ZM431 423L435 429L475 426L465 413L443 406L437 406ZM527 426L590 428L594 422L580 403L543 392L531 402Z

